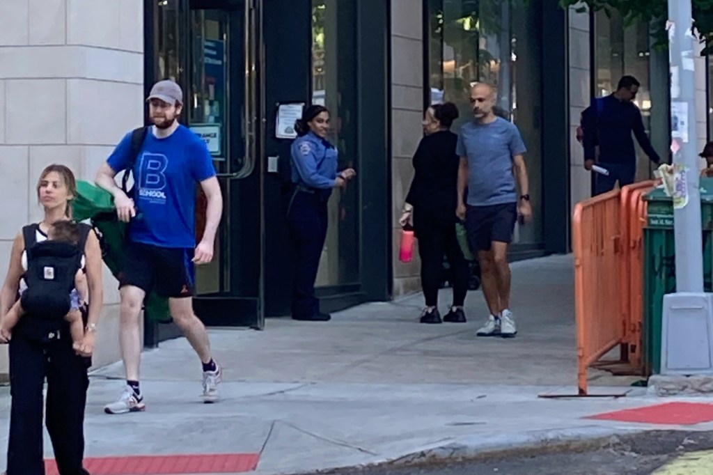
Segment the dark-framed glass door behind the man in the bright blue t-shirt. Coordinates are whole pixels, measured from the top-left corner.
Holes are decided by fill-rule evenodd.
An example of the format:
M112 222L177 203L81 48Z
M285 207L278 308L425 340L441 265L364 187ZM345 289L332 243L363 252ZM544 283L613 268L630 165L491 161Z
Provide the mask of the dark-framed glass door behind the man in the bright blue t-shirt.
M196 269L206 325L262 328L262 177L257 144L257 18L250 0L156 0L155 78L184 91L182 121L203 138L223 195L215 257ZM196 238L206 200L196 197Z

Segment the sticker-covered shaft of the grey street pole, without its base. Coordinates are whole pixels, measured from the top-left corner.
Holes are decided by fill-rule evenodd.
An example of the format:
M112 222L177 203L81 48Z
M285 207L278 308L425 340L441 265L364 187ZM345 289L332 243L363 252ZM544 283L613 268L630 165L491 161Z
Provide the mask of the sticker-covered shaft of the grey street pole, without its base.
M671 136L674 165L684 167L677 191L687 196L674 205L676 291L703 292L701 200L696 131L696 85L691 0L668 1L671 68ZM699 106L700 107L700 106ZM674 200L675 203L675 200Z

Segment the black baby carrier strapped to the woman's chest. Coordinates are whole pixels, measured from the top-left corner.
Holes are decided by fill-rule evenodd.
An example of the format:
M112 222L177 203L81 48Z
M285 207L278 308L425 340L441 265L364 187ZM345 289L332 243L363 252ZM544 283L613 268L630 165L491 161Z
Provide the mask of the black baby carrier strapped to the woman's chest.
M79 240L37 242L37 224L22 228L27 252L27 289L21 297L23 310L43 320L61 320L71 308L70 292L81 268L82 255L91 226L78 223Z

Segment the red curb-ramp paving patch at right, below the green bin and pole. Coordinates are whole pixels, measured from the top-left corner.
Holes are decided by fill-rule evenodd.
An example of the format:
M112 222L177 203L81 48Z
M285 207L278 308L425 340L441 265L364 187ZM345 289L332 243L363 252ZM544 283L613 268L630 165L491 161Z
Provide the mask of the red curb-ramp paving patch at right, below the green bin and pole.
M689 426L713 421L713 404L699 402L668 402L655 406L625 409L588 416L587 419L603 419L642 424L677 424Z

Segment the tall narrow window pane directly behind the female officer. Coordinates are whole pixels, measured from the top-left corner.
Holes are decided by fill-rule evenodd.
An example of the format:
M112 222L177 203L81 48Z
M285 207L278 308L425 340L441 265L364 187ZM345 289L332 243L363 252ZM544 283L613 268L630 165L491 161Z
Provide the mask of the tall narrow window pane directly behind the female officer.
M339 169L359 169L356 150L356 2L312 0L312 103L329 109L329 141L339 150ZM334 190L317 286L359 282L359 195L352 183Z

